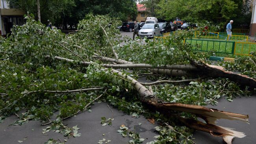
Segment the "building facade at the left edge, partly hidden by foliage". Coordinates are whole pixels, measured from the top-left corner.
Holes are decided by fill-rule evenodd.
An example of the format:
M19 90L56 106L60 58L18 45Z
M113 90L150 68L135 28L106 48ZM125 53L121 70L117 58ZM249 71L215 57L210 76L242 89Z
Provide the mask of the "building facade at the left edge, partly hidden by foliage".
M0 0L0 34L6 36L11 32L13 25L23 25L25 11L15 9L6 0Z

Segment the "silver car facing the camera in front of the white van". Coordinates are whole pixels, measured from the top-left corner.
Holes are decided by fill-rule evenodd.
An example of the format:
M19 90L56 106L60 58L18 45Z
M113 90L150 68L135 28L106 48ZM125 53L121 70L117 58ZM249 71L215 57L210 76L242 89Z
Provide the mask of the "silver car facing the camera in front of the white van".
M143 25L141 30L139 30L139 36L148 38L154 38L154 36L160 35L160 27L158 24L147 23Z

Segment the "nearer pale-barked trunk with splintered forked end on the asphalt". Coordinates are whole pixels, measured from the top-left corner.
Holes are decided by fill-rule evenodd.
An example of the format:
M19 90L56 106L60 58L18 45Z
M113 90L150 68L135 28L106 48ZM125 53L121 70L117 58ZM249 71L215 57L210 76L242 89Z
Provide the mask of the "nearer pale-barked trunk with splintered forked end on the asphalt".
M105 70L108 70L107 68ZM117 73L118 76L131 81L134 84L134 88L139 92L141 96L141 102L147 104L154 110L159 110L168 112L169 110L176 110L182 112L190 112L196 114L198 117L201 117L206 121L206 124L191 120L179 118L181 122L186 124L190 128L195 130L205 131L210 133L213 136L224 137L224 140L229 141L234 137L242 138L245 137L243 132L238 132L231 130L230 128L224 128L221 126L215 125L217 119L230 119L230 120L240 120L248 122L248 115L241 115L237 113L223 112L216 109L206 108L204 106L196 106L189 104L180 104L180 103L169 103L162 101L154 96L145 86L141 85L138 81L133 79L122 72L112 69L112 73Z

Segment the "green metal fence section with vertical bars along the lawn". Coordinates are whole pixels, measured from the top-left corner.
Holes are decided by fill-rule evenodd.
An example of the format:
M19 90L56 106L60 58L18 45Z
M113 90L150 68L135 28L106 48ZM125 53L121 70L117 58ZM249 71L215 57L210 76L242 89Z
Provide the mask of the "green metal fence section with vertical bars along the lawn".
M185 43L195 45L193 50L205 52L213 50L218 53L234 54L234 41L185 39Z

